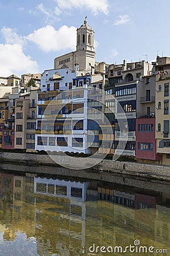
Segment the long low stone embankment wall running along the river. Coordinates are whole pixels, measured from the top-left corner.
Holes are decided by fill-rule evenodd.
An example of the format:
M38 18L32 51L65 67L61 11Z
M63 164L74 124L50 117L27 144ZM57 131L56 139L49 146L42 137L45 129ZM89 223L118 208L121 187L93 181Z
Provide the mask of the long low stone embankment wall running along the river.
M55 162L49 155L19 154L2 152L0 163L26 164L28 166L63 166L74 170L91 168L94 173L107 172L126 174L154 179L170 180L170 166L159 164L144 164L135 162L119 162L112 160L101 160L95 158L73 158L70 156L55 156ZM57 164L56 164L57 163Z

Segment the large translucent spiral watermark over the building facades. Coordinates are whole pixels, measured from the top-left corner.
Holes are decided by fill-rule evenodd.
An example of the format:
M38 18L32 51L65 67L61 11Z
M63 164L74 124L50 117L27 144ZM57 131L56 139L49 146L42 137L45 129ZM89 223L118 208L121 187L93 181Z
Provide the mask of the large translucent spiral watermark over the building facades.
M128 141L126 114L116 98L112 95L105 96L104 90L92 87L58 92L57 96L42 108L42 149L60 166L78 170L91 168L113 152L114 117L120 130L117 131L113 160L117 160L124 151ZM81 160L65 154L90 154L90 148L94 149L94 154ZM62 152L61 157L58 152Z

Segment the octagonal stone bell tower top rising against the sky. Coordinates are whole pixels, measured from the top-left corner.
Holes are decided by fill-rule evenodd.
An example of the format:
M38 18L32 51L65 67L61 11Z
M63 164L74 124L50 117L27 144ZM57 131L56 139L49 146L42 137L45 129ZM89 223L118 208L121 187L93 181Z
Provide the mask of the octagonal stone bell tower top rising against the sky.
M94 30L87 24L87 17L83 25L78 28L76 35L76 50L94 51Z

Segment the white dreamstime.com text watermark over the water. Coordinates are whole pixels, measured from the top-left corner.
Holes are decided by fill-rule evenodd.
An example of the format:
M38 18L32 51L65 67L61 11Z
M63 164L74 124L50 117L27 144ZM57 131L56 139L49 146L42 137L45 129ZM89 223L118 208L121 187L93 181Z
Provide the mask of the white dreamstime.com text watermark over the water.
M83 249L83 254L86 251ZM122 254L122 253L168 253L167 249L156 249L154 246L141 246L141 242L139 240L135 240L133 245L128 246L96 246L95 243L88 248L88 253L90 255L96 255L95 253L112 253L112 254Z

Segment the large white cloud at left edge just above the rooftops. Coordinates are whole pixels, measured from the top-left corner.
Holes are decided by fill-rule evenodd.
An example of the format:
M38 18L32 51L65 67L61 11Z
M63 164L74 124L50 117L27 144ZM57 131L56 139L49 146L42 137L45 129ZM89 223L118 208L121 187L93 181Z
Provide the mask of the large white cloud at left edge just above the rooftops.
M19 44L0 44L0 59L1 76L39 72L37 62L26 56Z

